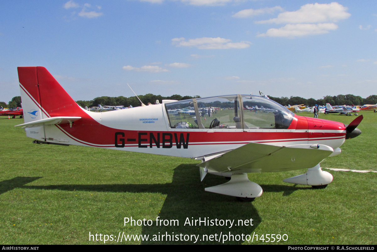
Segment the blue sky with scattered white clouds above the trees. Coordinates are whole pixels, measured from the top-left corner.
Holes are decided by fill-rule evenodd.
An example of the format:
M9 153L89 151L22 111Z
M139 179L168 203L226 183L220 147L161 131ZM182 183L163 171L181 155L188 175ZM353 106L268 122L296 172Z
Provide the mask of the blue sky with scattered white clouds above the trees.
M0 3L0 101L18 66L75 100L136 94L377 94L377 1L70 0Z

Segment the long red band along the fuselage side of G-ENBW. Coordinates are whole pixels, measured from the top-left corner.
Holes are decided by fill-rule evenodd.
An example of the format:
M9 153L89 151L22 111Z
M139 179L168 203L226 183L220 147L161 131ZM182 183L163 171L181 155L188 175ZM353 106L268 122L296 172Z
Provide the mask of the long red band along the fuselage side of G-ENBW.
M93 120L94 121L94 120ZM135 130L118 130L115 128L106 127L104 125L83 125L81 119L72 124L61 124L59 128L69 137L82 144L95 147L115 147L115 134L118 135L118 144L124 141L127 147L136 146L139 142L142 145L152 145L156 141L162 143L173 137L173 145L175 145L175 135L178 140L181 134L186 139L189 134L189 145L212 145L212 144L247 144L248 142L296 142L296 141L310 141L310 138L339 139L345 137L345 133L321 133L320 136L311 137L308 132L203 132L203 131L135 131ZM124 136L123 136L124 135ZM152 135L152 136L151 136ZM309 135L309 136L308 136ZM165 137L165 139L163 138ZM128 139L131 139L129 141Z

